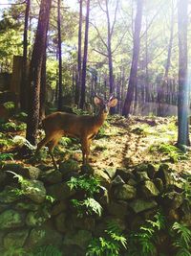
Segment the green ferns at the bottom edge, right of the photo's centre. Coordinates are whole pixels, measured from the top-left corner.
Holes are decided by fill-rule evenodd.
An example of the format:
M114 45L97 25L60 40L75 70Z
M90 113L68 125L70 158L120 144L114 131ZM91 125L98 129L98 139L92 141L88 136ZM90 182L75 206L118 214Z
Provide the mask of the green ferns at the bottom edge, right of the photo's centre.
M117 256L122 247L127 248L127 240L116 221L109 221L105 236L94 238L88 245L86 256Z

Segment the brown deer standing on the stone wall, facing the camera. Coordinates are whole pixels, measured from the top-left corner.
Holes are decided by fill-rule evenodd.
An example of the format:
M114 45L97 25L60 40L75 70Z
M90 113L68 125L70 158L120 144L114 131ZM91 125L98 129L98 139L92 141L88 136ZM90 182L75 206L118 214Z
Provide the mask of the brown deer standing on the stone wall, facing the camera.
M96 136L99 128L107 118L110 107L117 105L117 98L111 97L105 102L100 97L94 97L94 103L99 107L96 115L75 115L66 112L54 112L42 120L42 128L45 130L45 137L42 139L35 151L35 155L42 147L48 146L49 153L53 160L53 166L57 169L53 157L53 149L58 144L61 137L78 138L81 144L82 163L87 164L90 155L90 145Z

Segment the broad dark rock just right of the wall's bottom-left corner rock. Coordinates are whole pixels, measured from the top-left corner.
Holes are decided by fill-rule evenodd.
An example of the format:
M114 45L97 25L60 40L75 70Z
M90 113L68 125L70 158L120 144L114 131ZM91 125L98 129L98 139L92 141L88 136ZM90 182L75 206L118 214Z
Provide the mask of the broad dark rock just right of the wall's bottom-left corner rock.
M30 248L36 248L47 244L56 246L60 245L61 242L62 235L60 233L56 232L52 227L42 226L32 228L27 244Z

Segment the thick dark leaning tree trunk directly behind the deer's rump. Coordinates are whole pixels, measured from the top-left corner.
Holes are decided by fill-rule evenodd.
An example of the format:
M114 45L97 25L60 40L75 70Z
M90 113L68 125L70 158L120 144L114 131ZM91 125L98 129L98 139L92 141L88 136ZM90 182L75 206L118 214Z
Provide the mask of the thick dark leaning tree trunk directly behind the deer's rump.
M42 63L46 48L47 27L49 23L52 0L41 0L38 25L32 50L30 66L30 94L27 124L27 139L36 145L36 131L39 122L40 81Z

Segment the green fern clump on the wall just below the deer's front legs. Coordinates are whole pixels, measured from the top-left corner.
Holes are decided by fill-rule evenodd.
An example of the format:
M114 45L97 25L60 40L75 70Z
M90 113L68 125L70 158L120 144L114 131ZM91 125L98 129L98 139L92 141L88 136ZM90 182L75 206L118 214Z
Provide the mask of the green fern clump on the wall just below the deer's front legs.
M89 197L99 191L99 180L94 176L82 175L80 177L72 176L67 182L71 190L83 190Z

